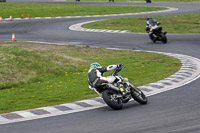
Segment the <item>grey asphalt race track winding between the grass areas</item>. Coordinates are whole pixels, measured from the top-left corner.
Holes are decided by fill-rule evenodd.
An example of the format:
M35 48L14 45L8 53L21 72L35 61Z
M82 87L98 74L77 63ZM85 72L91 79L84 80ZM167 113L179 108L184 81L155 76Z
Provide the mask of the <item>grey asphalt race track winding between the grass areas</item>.
M19 1L27 2L28 0ZM76 2L68 3L77 4ZM108 2L80 2L78 4L111 5ZM179 9L149 14L151 16L200 12L200 3L118 2L112 3L112 5L165 6ZM146 16L146 14L4 21L0 23L0 41L11 41L11 35L15 32L17 41L150 50L200 58L200 34L167 34L167 44L154 44L146 34L93 33L68 29L72 24L91 20L134 16ZM199 86L200 79L197 79L177 89L150 96L147 105L129 102L120 111L103 107L73 114L0 125L0 133L199 133Z

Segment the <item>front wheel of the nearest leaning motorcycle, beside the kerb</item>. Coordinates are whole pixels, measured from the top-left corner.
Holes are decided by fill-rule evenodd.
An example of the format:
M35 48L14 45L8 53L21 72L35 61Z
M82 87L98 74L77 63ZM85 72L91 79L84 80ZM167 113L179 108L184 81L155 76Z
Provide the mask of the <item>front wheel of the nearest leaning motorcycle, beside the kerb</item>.
M138 88L131 87L131 96L135 101L137 101L140 104L147 104L148 99L145 96L145 94Z

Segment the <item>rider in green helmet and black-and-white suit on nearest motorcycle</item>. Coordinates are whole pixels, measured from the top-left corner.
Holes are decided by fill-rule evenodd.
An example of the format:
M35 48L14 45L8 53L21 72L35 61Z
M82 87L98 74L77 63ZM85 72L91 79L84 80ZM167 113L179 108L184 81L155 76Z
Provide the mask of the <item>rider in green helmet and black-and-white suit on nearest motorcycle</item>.
M94 62L90 65L90 69L88 71L88 81L89 81L89 88L91 90L97 91L98 94L102 92L101 87L103 83L112 83L113 80L111 80L108 77L103 77L103 73L111 70L119 70L121 69L122 64L115 64L115 65L109 65L107 67L102 67L99 63ZM120 79L115 79L114 83L117 83ZM122 94L125 93L125 90L123 89L123 86L120 86L120 91Z

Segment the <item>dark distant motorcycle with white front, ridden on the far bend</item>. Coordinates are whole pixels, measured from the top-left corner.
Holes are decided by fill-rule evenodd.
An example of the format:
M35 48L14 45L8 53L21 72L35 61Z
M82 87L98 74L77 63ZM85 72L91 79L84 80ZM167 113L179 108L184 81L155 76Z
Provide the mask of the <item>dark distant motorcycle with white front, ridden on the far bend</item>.
M149 32L150 39L155 43L156 41L161 41L162 43L167 43L167 32L162 31L162 27L158 24L152 24Z

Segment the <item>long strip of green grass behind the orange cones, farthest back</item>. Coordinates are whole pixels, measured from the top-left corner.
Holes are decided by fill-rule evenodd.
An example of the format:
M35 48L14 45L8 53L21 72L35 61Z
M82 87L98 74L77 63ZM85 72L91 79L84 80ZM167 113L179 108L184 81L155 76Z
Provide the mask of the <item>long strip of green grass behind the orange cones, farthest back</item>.
M0 16L9 18L28 17L55 17L79 15L103 15L117 13L134 13L164 10L159 7L134 6L103 6L103 5L75 5L75 4L47 4L47 3L0 3Z

